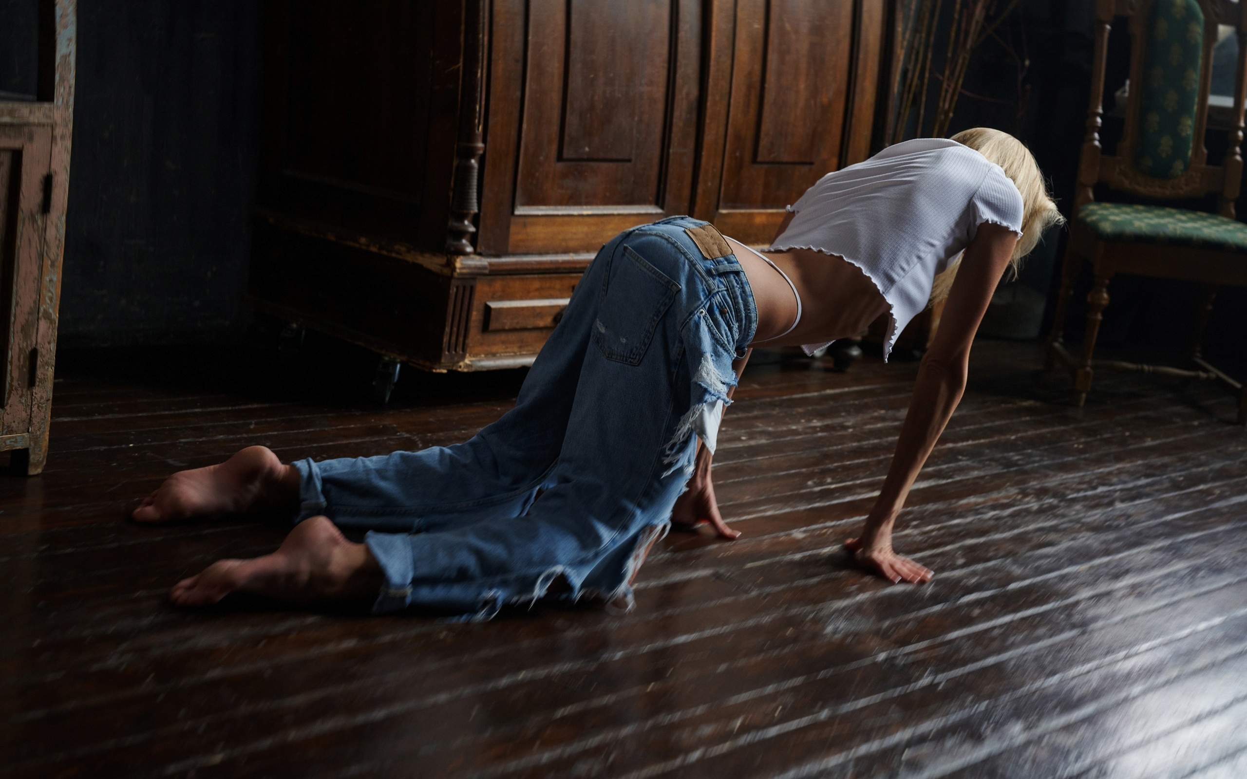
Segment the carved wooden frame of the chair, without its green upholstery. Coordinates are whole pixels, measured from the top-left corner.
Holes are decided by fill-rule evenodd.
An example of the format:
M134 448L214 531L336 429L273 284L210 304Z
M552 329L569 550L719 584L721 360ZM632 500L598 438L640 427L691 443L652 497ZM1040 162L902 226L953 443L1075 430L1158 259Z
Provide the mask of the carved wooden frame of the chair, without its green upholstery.
M1134 165L1137 143L1139 112L1142 90L1131 90L1126 106L1126 131L1115 156L1106 156L1100 147L1100 126L1104 116L1104 76L1109 49L1109 32L1114 16L1130 16L1131 82L1142 84L1143 62L1147 52L1146 20L1155 2L1160 0L1097 0L1095 22L1095 55L1091 74L1091 103L1087 108L1087 133L1079 161L1075 213L1094 199L1094 187L1106 183L1115 189L1155 198L1198 197L1218 193L1218 213L1235 218L1235 201L1242 182L1243 103L1247 98L1247 4L1227 0L1197 0L1205 19L1202 67L1193 136L1191 165L1187 172L1172 179L1160 179L1140 172ZM1212 46L1217 40L1217 25L1235 27L1238 36L1238 64L1235 75L1235 105L1232 126L1222 166L1207 165L1203 133L1208 115L1208 87L1211 84ZM1064 345L1065 310L1082 262L1090 262L1095 283L1087 295L1087 325L1082 340L1082 354L1072 356ZM1095 340L1105 307L1109 305L1109 282L1116 273L1137 273L1203 283L1207 295L1201 309L1190 359L1193 370L1165 365L1141 365L1117 360L1095 360ZM1074 404L1082 405L1096 368L1158 373L1191 379L1218 380L1238 393L1238 424L1247 424L1247 383L1228 376L1207 363L1200 344L1207 313L1216 298L1217 287L1231 284L1247 287L1247 265L1243 257L1231 252L1193 247L1168 247L1136 242L1105 242L1096 238L1076 219L1070 231L1061 289L1057 295L1052 332L1045 344L1045 369L1057 363L1074 378Z

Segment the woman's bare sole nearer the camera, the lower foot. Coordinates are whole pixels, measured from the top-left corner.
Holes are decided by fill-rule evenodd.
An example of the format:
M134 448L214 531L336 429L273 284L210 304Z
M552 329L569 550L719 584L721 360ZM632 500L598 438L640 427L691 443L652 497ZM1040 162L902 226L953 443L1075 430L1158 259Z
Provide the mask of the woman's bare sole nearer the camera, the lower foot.
M329 517L299 522L272 555L218 560L198 576L173 586L170 601L207 606L231 592L252 592L296 603L348 601L375 595L384 581L377 558L352 543Z

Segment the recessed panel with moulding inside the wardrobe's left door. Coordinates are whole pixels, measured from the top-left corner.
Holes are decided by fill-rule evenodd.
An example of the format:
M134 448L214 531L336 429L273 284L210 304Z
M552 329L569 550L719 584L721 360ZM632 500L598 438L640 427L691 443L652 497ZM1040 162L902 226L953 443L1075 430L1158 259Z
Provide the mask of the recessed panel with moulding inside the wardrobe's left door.
M661 213L670 0L532 0L515 213Z

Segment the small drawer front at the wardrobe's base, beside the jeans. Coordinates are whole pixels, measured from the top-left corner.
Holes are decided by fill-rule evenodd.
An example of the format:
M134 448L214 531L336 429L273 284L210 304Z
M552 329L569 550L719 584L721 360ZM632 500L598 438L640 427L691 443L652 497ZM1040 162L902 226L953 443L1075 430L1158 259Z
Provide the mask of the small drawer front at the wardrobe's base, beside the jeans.
M468 356L540 351L577 282L580 273L479 278L468 322Z

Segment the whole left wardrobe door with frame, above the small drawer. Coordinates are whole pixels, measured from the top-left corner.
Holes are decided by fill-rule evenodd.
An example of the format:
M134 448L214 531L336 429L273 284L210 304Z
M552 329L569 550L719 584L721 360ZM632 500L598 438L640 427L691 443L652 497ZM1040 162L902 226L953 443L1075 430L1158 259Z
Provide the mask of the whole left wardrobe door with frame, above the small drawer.
M591 252L688 209L700 19L696 0L494 4L485 253Z

